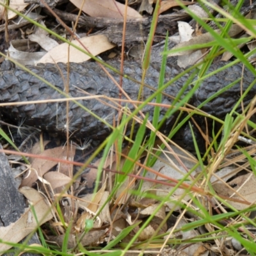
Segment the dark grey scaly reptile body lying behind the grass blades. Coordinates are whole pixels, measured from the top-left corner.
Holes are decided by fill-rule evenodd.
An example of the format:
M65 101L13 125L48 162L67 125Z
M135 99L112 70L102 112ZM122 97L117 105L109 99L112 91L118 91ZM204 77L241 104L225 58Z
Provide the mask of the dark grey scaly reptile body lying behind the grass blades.
M116 68L120 67L120 62L118 61L110 61L109 64ZM212 64L211 68L209 68L209 72L223 67L223 65L225 65L225 63L214 63ZM28 68L29 70L32 70L38 74L38 76L41 76L45 80L52 83L62 92L65 92L65 84L63 83L63 79L67 81L67 65L58 63L58 66L61 72L56 65L49 63L46 65L40 64L36 67L29 66ZM182 68L167 63L164 82L166 83L170 81L170 79L177 76L182 71ZM118 74L115 74L115 72L111 70L109 72L117 82L120 81L120 76ZM152 88L144 86L143 99L148 99L148 97L150 97L150 95L157 90L159 72L159 63L152 63L148 68L144 83L152 86ZM134 61L125 63L124 74L141 81L141 74L143 74L141 63ZM167 95L163 95L162 97L163 104L172 104L172 97L177 96L180 89L182 86L184 86L184 84L186 84L191 74L193 74L193 72L181 77L178 79L178 81L170 84L170 86L164 90L164 93ZM244 68L243 70L243 65L238 64L205 79L200 85L200 88L198 88L193 97L191 97L189 103L195 107L199 106L202 102L204 102L204 100L209 99L209 97L211 97L211 95L213 95L215 92L218 92L218 90L221 90L221 88L224 88L233 81L236 81L236 79L239 79L242 74L243 90L246 90L246 88L250 86L250 83L252 83L255 79L255 76L253 76L252 72L250 72L248 69ZM69 93L72 95L72 97L86 96L86 94L77 90L75 86L81 90L84 90L85 92L92 93L93 95L105 95L106 97L113 98L119 97L119 89L116 88L113 81L106 75L104 70L102 70L97 63L70 63ZM135 83L134 81L124 78L122 87L132 100L136 100L138 98L140 83ZM192 87L193 84L189 85L182 96L184 97ZM218 118L224 119L225 115L231 111L237 100L239 100L241 95L240 91L240 83L237 83L227 92L222 93L215 99L211 100L211 102L205 104L202 107L202 110L211 115L217 116ZM256 86L254 85L244 100L245 106L250 102L250 100L253 99L255 94ZM31 76L31 74L22 70L21 68L11 68L10 70L0 71L0 102L26 102L28 100L46 100L47 102L49 99L61 99L63 97L64 96L60 95L60 93L56 92L56 90L49 87L36 77ZM125 99L124 95L122 95L122 98ZM106 101L108 104L99 102L97 99L79 100L79 102L112 125L113 117L115 116L115 118L117 118L118 114L118 111L113 109L113 106L116 105L107 99L102 100ZM156 99L153 99L152 102L156 102ZM20 118L25 118L24 124L38 128L41 127L41 129L46 129L47 131L54 131L58 132L60 135L65 135L65 129L58 129L56 120L58 118L58 120L61 120L65 124L66 106L66 102L58 102L58 104L56 102L47 102L46 104L8 106L0 108L0 114L1 116L7 116L12 120L20 120ZM107 125L103 124L89 113L86 113L86 111L83 109L77 107L74 102L70 102L69 106L70 124L72 125L72 131L75 131L72 136L75 138L84 138L84 140L88 138L102 140L111 132L111 129ZM128 106L131 111L134 110L134 106L132 106L132 104L122 102L122 107L124 106ZM241 111L241 107L239 107L237 110ZM166 111L167 108L161 108L159 121L161 121ZM149 119L152 120L154 106L146 106L143 109L143 112L148 113ZM170 117L170 120L166 121L166 124L173 124L173 116ZM136 128L138 129L138 125ZM165 132L170 131L170 129L171 127L168 127L168 125L163 127ZM191 136L189 136L187 133L183 136L183 138L184 140L188 140L187 144L189 144Z

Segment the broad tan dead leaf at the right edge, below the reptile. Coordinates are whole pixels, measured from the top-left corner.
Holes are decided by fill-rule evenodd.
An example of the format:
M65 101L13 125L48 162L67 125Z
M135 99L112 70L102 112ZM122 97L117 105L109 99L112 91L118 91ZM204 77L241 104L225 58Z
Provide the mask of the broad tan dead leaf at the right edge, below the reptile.
M255 204L256 202L256 177L253 173L247 173L231 180L225 186L222 182L213 184L212 187L216 193L224 196L228 196L232 199L242 200ZM240 202L228 201L228 204L232 205L237 210L246 209L248 204L241 204Z

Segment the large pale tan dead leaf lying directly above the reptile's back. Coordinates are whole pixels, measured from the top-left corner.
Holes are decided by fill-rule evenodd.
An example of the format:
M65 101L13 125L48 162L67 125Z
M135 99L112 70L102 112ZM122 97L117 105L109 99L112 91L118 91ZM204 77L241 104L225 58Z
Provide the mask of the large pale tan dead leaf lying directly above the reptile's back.
M108 51L115 47L115 44L112 44L108 41L108 38L104 35L95 35L95 36L86 36L79 41L90 51L93 56L100 54L101 52ZM72 44L75 44L81 48L83 46L77 41L73 40ZM69 60L70 62L80 63L86 60L90 60L90 57L83 52L77 50L76 48L70 46L68 51L69 45L67 43L63 43L51 49L51 51L47 52L38 63L58 63L63 62L67 63ZM69 54L69 58L68 58Z

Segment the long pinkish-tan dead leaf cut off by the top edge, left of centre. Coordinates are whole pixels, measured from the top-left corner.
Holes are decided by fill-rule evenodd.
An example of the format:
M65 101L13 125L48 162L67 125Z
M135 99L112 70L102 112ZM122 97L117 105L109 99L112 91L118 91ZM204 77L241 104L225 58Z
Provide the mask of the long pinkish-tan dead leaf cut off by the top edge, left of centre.
M125 4L118 3L114 0L70 0L77 8L82 8L83 12L92 17L105 17L109 19L123 19ZM127 19L138 19L142 16L131 7L127 7Z

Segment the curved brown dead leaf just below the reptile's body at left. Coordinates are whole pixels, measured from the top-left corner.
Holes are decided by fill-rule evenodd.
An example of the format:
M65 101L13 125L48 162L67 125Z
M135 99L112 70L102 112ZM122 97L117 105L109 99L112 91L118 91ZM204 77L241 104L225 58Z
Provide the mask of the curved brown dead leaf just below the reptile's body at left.
M69 154L71 154L71 150L68 150L68 152ZM42 152L40 156L67 159L67 147L56 147L47 149ZM69 158L73 159L74 153L72 156L70 155ZM38 158L34 159L31 163L31 172L29 173L28 177L22 180L20 187L31 187L32 184L38 179L38 177L43 177L43 175L51 170L51 168L54 167L56 164L58 164L58 162L56 161L49 161L47 159Z

